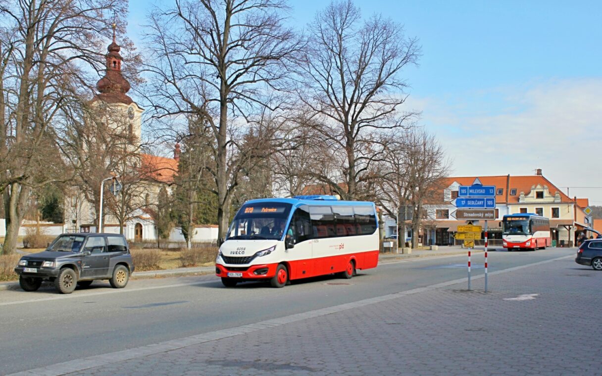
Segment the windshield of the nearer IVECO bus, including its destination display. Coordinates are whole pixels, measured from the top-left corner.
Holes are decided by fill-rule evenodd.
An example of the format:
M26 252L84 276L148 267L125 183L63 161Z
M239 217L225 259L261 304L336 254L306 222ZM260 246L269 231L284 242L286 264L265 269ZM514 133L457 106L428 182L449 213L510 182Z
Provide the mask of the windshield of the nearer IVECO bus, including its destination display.
M291 204L252 203L238 211L226 239L281 239L287 226Z

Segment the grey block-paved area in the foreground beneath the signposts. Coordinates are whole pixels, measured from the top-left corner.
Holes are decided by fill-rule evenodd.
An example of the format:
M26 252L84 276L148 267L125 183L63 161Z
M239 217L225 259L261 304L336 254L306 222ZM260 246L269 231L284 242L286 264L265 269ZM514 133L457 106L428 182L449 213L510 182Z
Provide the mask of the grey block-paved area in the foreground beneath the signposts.
M566 257L516 269L491 273L487 294L483 279L470 292L465 282L415 289L164 342L129 360L115 353L71 375L602 374L602 273Z

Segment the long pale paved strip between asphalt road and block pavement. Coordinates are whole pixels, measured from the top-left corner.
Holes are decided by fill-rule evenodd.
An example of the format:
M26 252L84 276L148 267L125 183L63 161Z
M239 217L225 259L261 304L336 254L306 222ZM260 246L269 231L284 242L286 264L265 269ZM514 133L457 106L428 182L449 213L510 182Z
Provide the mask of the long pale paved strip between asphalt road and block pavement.
M504 270L494 271L493 273L489 273L491 275L508 273L510 271L520 270L529 267L535 267L537 265L548 264L549 262L554 262L557 260L568 259L570 256L562 256L557 257L556 259L544 260L535 262L533 264L520 265L519 267L508 268ZM479 279L485 277L485 274L481 274L480 276L473 277L473 279ZM188 347L191 345L199 345L205 342L217 341L219 339L238 336L243 333L250 333L252 331L263 330L264 328L276 327L280 325L290 324L292 322L302 321L309 318L316 318L319 316L330 315L331 313L342 312L344 310L349 310L353 308L359 308L368 306L374 303L380 303L382 301L388 301L397 299L400 297L405 297L406 295L414 295L419 294L420 292L432 291L438 288L456 285L457 283L466 282L467 278L455 279L447 282L435 283L435 285L424 286L420 288L415 288L407 291L400 291L394 294L383 295L381 297L368 298L364 300L355 301L352 303L344 303L339 304L338 306L326 307L321 309L316 309L308 312L295 313L293 315L282 316L279 318L269 319L265 321L255 322L254 324L241 325L238 327L226 328L222 330L210 331L208 333L196 334L190 337L183 337L178 339L172 339L170 341L160 342L158 344L152 344L137 348L131 348L128 350L116 351L114 353L95 355L91 357L86 357L83 359L75 359L69 360L69 362L56 363L54 365L49 365L40 368L30 369L29 371L17 372L16 374L11 374L8 376L33 376L33 375L44 375L44 376L54 376L54 375L63 375L70 372L79 372L84 371L84 369L95 368L98 366L104 366L112 363L119 363L123 360L135 359L138 357L149 356L153 354L164 353L165 351L176 350L179 348ZM208 283L208 282L205 282ZM191 285L191 284L189 284ZM182 284L182 286L186 286L186 284Z

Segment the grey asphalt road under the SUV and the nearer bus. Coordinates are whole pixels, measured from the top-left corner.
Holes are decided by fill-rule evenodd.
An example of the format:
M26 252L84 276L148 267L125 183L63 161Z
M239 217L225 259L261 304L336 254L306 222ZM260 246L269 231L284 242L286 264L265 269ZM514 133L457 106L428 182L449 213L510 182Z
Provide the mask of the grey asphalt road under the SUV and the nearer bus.
M575 254L574 248L489 252L489 271ZM214 276L108 282L71 295L51 288L0 291L0 374L110 353L466 277L465 256L405 259L359 271L352 280L321 277L273 289L226 289ZM472 258L483 273L483 254ZM481 266L481 268L479 268ZM577 268L580 265L575 264ZM521 273L529 273L528 269ZM349 283L349 284L348 284ZM489 278L495 291L495 276Z

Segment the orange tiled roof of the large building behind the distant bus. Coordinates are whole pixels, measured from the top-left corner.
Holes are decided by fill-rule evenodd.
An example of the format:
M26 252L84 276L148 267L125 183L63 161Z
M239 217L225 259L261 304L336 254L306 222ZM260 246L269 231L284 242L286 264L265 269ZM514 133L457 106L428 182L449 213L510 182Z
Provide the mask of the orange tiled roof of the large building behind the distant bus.
M444 188L447 188L448 186L452 185L453 182L457 182L460 185L472 185L472 183L474 182L474 179L476 179L477 176L463 176L463 177L445 177L444 179L442 179L442 184L441 186ZM529 194L529 192L531 191L531 188L533 186L547 186L548 190L550 191L550 194L552 196L556 195L556 192L560 193L560 202L563 203L571 203L573 202L572 199L570 199L568 196L566 196L566 194L562 193L562 191L560 191L558 188L556 188L556 186L550 182L550 180L546 179L543 175L530 175L530 176L507 176L507 175L502 175L502 176L479 176L479 180L481 183L483 183L483 185L495 185L495 188L497 188L497 190L499 191L500 189L501 194L497 194L495 195L495 202L497 203L509 203L509 204L515 204L518 203L518 198L521 195L521 192L524 192L524 194ZM441 190L444 188L440 188ZM517 194L515 195L510 195L510 192L507 192L507 190L517 190ZM438 195L439 197L443 197L443 194L441 193L440 195ZM438 197L438 199L439 199ZM507 200L506 200L507 197Z

